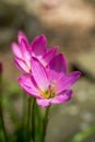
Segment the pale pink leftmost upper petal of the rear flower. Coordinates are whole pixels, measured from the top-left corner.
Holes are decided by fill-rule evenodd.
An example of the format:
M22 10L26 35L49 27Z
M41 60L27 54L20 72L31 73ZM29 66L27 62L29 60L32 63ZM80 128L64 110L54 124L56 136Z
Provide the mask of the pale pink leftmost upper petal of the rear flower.
M17 58L21 58L22 59L22 54L21 54L21 50L20 50L20 47L17 44L15 43L12 43L12 51L13 54L17 57Z

